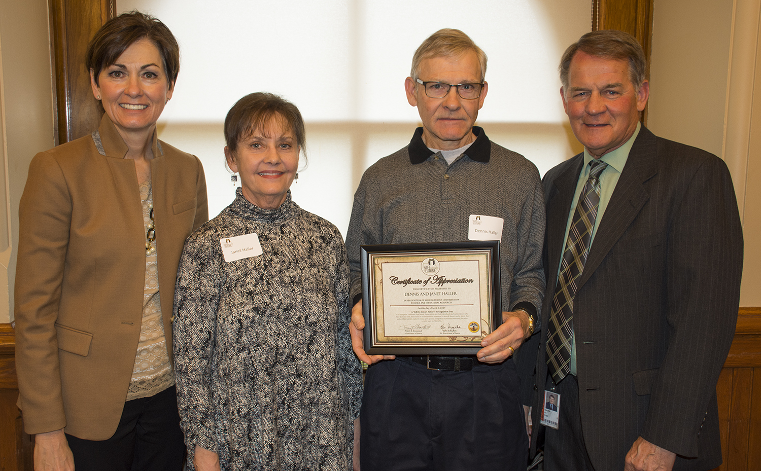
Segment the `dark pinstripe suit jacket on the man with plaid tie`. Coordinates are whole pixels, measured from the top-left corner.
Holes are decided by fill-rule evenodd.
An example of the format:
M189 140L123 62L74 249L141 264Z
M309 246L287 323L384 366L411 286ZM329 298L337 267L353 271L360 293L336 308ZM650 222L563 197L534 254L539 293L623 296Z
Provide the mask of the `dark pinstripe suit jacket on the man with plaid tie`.
M578 154L543 180L543 326L583 162ZM734 335L742 262L742 228L724 161L643 127L597 228L574 302L579 410L595 469L623 469L640 435L677 453L674 469L721 463L715 385ZM546 329L540 342L542 390ZM534 424L543 405L537 396ZM539 434L533 434L533 450Z

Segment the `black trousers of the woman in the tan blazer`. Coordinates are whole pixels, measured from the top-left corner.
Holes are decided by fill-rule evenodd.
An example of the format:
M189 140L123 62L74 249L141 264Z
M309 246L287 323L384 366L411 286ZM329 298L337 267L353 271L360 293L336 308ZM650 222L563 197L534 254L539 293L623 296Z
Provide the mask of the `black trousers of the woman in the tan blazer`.
M177 393L170 387L124 403L113 437L84 440L66 434L77 471L181 471L185 457Z

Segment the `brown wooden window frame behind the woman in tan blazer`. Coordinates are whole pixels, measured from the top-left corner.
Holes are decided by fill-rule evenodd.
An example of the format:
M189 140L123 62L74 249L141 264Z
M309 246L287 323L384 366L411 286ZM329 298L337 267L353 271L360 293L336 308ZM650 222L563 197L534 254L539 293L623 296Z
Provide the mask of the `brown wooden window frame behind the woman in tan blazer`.
M58 142L90 134L103 111L94 100L84 54L93 33L116 11L116 0L50 0L50 29L56 74Z

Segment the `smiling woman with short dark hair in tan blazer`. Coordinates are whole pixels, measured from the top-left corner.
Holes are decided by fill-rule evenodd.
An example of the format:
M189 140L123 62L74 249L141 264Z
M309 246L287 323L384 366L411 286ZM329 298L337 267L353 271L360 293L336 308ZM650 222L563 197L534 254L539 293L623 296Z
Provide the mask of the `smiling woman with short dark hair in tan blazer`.
M161 142L179 49L133 11L88 47L97 131L41 152L19 208L19 406L35 469L182 469L171 314L208 219L201 162Z

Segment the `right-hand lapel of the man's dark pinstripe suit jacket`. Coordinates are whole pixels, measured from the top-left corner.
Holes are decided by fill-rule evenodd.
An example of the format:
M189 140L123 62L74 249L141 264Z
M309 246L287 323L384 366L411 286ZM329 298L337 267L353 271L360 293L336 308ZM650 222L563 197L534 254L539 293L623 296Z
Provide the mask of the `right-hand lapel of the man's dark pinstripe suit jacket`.
M629 151L629 158L626 159L616 189L613 190L603 219L597 227L584 273L578 282L579 289L600 266L650 198L644 183L658 173L656 158L655 136L643 126Z

